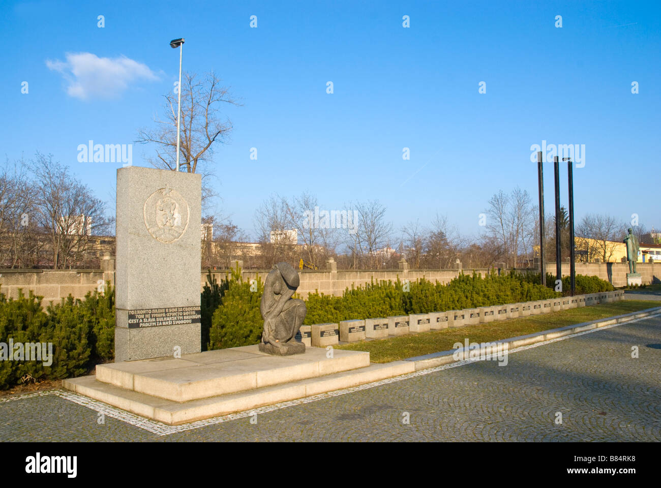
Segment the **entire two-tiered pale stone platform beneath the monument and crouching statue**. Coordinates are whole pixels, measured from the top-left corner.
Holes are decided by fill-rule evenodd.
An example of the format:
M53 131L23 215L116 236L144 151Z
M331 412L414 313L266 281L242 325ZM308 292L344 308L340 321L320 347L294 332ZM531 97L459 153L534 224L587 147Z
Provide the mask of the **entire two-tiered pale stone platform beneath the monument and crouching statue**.
M309 347L272 356L258 345L99 364L96 376L63 386L169 425L207 419L358 386L414 371L414 364L369 363L369 352Z

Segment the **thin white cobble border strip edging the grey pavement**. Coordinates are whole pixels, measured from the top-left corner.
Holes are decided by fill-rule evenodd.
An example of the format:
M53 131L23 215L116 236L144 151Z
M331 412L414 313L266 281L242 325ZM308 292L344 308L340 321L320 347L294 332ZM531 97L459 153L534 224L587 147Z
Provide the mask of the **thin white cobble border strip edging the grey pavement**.
M638 319L632 319L626 322L613 323L611 325L604 325L603 327L596 327L595 329L590 329L589 331L577 332L571 335L565 335L563 337L557 337L555 339L549 339L548 341L541 341L539 343L530 344L527 346L520 346L511 350L508 350L508 354L513 352L520 352L522 350L531 349L534 347L539 347L557 341L564 341L565 339L570 339L571 337L578 337L580 335L590 334L597 331L603 331L604 329L610 329L611 327L617 327L618 325L625 325L629 323L639 322L641 320L650 319L653 317L660 317L661 313L656 313L654 315L648 315L647 317L640 317ZM268 413L287 407L294 407L296 405L303 405L305 403L311 403L313 401L323 400L326 398L337 397L340 395L346 395L346 393L353 393L354 391L361 391L363 389L373 388L376 386L382 386L391 384L394 382L400 382L402 380L408 380L409 378L416 378L417 376L423 376L425 374L435 373L437 371L447 370L449 368L457 368L458 366L464 366L465 364L470 364L471 362L479 361L479 358L465 359L457 362L452 362L450 364L442 364L441 366L435 366L434 368L428 368L425 370L420 370L412 373L403 374L401 376L395 376L394 378L386 378L385 380L380 380L373 383L366 383L364 385L354 386L350 388L338 389L335 391L329 391L328 393L320 393L319 395L313 395L311 397L299 398L291 401L284 401L281 403L275 403L274 405L266 405L264 407L259 407L257 409L243 411L239 413L231 413L229 415L222 415L221 417L213 417L212 419L205 419L201 421L191 422L183 425L167 425L161 422L152 421L145 417L140 417L133 413L111 407L106 403L102 403L98 400L93 400L89 397L79 395L78 393L73 393L73 391L64 390L64 389L53 389L48 391L40 391L38 393L29 393L28 395L15 395L13 397L7 397L0 399L0 403L5 403L8 401L22 400L33 397L43 397L47 395L56 395L65 400L69 400L77 405L82 405L94 411L103 413L106 417L111 417L112 419L117 419L124 423L128 423L134 427L142 428L147 430L152 434L158 436L169 436L171 434L176 434L177 432L186 432L187 430L193 430L200 427L208 427L210 425L217 425L227 421L233 421L237 419L245 419L247 417L252 417L253 415L260 413Z

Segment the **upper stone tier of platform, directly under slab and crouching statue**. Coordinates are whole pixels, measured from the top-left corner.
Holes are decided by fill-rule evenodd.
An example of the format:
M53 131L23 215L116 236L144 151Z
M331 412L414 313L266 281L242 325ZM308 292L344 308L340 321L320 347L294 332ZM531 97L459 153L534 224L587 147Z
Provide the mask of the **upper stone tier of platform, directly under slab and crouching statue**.
M171 401L191 401L366 368L369 352L308 347L304 354L272 356L257 345L181 358L99 364L96 380Z

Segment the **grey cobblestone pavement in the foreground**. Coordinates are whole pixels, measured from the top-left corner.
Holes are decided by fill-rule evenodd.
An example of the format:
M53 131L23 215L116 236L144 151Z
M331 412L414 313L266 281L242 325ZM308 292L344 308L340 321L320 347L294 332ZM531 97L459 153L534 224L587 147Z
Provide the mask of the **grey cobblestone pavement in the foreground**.
M467 329L470 339L469 329ZM661 316L172 434L59 397L0 400L3 441L659 441ZM639 357L632 358L632 346ZM405 412L410 423L405 424ZM557 413L562 424L557 424Z

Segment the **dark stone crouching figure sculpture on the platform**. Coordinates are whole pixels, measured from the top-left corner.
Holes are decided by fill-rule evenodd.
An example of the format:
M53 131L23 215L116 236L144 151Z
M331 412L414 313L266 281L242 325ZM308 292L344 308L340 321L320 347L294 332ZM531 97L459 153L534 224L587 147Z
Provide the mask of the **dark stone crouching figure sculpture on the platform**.
M292 296L300 284L298 273L288 263L278 263L266 276L260 311L264 331L259 350L289 356L305 352L305 344L295 339L303 319L305 302Z

